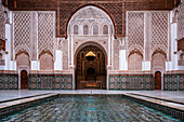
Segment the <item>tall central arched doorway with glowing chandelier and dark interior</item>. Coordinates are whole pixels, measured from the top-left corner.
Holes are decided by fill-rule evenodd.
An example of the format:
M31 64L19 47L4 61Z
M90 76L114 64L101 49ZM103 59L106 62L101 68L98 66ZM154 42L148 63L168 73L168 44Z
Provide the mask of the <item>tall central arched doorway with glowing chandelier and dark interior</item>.
M93 57L88 57L89 55ZM77 53L76 89L106 89L104 52L95 45L86 45Z

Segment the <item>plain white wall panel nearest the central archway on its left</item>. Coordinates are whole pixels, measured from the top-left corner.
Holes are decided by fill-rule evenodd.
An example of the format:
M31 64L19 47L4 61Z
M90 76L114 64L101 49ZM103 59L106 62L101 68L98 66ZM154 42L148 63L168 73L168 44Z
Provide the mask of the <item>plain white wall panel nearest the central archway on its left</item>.
M63 52L61 50L55 51L54 70L63 70Z

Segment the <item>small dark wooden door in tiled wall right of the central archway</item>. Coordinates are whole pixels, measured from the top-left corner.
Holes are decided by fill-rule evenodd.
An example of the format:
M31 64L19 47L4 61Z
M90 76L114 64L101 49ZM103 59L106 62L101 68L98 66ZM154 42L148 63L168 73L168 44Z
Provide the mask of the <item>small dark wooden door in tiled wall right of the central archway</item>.
M161 90L161 72L155 72L155 90Z

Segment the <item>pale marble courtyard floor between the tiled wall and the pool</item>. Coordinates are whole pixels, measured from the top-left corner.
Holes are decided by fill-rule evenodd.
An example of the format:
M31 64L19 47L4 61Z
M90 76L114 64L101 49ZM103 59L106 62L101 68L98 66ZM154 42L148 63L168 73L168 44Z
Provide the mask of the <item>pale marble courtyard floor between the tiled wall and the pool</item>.
M75 90L75 91L30 91L30 90L11 90L0 91L0 101L16 99L29 96L41 96L44 94L133 94L155 98L161 98L184 104L184 91L106 91L106 90Z

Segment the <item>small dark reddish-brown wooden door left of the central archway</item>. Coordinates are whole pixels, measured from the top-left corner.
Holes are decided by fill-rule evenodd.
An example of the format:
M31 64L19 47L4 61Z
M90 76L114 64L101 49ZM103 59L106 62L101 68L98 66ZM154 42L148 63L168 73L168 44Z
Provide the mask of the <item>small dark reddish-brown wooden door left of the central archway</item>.
M28 89L28 77L26 70L21 71L21 89Z

